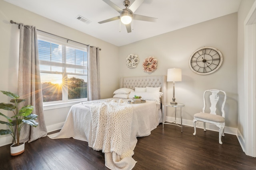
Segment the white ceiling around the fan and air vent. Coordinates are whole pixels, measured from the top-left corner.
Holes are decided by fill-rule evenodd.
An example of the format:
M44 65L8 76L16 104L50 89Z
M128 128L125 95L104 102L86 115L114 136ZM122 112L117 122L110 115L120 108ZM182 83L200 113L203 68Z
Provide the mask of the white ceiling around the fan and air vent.
M116 10L102 0L5 1L116 46L122 46L232 14L238 11L241 0L144 0L134 14L158 18L158 21L154 23L134 20L131 33L127 33L126 27L122 23L120 27L119 20L98 23L119 15ZM123 0L111 1L120 8L125 8ZM132 2L134 0L130 0L130 4ZM91 22L87 24L77 20L78 15Z

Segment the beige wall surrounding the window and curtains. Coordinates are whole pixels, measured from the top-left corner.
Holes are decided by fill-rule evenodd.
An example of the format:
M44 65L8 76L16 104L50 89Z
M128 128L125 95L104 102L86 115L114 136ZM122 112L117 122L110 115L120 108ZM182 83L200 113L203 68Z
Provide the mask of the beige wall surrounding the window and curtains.
M18 25L11 24L10 20L26 25L35 25L42 31L100 47L102 49L100 51L101 98L111 97L112 92L118 88L118 67L116 67L118 65L118 47L0 0L0 90L17 92L19 29ZM0 102L7 103L9 100L0 94ZM63 125L69 108L44 111L48 129ZM0 120L4 120L4 118L0 117ZM6 127L0 124L0 129L6 129ZM10 142L11 138L6 139L6 135L0 136L0 146Z

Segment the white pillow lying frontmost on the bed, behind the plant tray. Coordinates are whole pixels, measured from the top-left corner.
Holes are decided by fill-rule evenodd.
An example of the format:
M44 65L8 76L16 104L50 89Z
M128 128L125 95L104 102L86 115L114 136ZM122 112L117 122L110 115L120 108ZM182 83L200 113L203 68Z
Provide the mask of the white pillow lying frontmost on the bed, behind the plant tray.
M162 92L130 92L129 98L134 98L134 96L141 96L142 100L153 100L157 104L160 104L160 97L163 95Z

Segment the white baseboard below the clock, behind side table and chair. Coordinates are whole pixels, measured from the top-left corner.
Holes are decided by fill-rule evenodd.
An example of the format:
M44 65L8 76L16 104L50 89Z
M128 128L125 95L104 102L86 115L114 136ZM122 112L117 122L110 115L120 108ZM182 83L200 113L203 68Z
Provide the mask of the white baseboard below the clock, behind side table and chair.
M168 122L173 122L175 121L175 117L168 117L166 116L166 121ZM180 123L180 119L176 119L176 122L179 124ZM192 120L186 120L186 119L182 119L182 125L186 125L189 127L193 127L193 121ZM210 131L219 131L219 128L216 125L210 124L210 123L206 123L206 129L210 130ZM197 128L201 128L204 129L204 124L200 121L197 122L196 124ZM237 135L237 128L234 127L226 127L224 128L224 133L227 134L231 134L231 135Z

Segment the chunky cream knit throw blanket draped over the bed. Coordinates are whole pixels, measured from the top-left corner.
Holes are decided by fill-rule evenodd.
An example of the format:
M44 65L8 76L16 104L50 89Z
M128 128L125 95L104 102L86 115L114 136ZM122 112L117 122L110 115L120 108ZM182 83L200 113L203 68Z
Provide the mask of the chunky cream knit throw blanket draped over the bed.
M132 106L119 100L83 102L92 117L92 148L102 152L115 152L120 158L132 156L129 148Z

